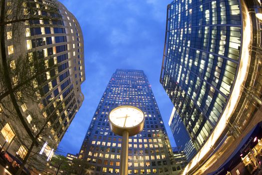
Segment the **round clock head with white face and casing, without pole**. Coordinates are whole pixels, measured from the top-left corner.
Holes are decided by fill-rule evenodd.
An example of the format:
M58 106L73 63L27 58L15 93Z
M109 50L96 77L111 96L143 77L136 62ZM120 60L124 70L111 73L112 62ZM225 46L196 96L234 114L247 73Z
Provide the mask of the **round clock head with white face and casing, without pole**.
M128 131L129 136L143 130L145 116L142 110L131 105L122 105L114 108L109 113L110 128L118 135Z

